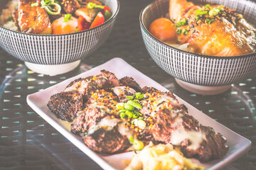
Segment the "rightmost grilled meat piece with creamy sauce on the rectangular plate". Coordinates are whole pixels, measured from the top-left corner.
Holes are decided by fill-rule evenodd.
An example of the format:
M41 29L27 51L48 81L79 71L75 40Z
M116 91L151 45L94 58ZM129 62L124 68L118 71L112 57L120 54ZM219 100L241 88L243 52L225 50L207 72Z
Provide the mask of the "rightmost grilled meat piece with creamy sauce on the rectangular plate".
M225 138L188 115L186 107L171 92L147 90L154 92L145 94L149 98L143 101L141 111L153 119L152 127L145 133L153 135L155 141L180 146L186 157L197 157L201 162L218 159L228 152Z

